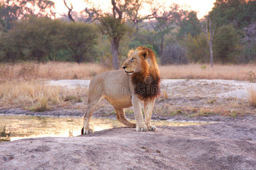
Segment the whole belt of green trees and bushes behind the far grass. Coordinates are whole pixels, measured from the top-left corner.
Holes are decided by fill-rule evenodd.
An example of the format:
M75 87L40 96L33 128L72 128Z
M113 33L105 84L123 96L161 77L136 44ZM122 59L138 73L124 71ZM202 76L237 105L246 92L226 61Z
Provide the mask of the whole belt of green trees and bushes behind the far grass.
M109 12L88 5L81 14L65 3L67 17L56 19L52 1L2 1L0 62L97 62L118 69L131 48L144 45L162 65L209 63L209 33L214 63L256 62L256 1L216 0L201 20L175 4L152 5L151 15L141 16L147 1L111 3Z

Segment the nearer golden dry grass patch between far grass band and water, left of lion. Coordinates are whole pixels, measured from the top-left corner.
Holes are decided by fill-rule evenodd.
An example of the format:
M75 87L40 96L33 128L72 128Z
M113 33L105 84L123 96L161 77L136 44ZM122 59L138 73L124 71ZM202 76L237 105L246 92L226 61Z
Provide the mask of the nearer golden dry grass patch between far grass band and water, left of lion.
M30 111L46 111L50 105L82 102L86 88L64 89L34 81L6 81L0 83L0 106L23 107Z

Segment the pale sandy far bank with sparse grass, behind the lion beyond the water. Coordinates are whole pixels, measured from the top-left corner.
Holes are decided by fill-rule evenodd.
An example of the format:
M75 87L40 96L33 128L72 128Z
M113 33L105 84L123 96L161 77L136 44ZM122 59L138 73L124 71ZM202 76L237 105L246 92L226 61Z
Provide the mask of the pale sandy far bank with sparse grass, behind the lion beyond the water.
M65 88L88 88L90 80L53 80L47 83ZM154 115L157 118L169 114L216 113L224 116L243 116L256 113L256 108L250 107L248 102L251 89L256 90L256 83L236 80L162 79L162 95L156 100ZM86 110L84 104L75 106ZM104 100L94 114L104 113L109 116L112 111L113 107ZM131 115L130 118L133 118L133 114L126 114L127 117Z

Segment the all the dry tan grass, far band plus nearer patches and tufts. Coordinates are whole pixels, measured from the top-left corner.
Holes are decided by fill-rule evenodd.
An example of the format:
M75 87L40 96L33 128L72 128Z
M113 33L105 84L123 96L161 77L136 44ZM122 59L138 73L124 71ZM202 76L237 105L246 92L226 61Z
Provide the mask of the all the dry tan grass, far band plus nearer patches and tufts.
M233 79L249 82L256 80L255 65L214 65L210 68L209 65L189 64L159 66L159 69L163 79ZM96 74L107 70L96 63L0 64L0 108L22 107L30 111L46 111L53 106L70 107L73 103L85 101L86 89L69 90L63 87L46 86L42 82L52 79L91 79ZM251 90L250 94L250 104L256 106L255 90ZM163 100L168 98L165 90L161 97ZM233 101L231 104L237 103ZM210 114L212 111L200 113ZM224 111L221 109L220 113Z

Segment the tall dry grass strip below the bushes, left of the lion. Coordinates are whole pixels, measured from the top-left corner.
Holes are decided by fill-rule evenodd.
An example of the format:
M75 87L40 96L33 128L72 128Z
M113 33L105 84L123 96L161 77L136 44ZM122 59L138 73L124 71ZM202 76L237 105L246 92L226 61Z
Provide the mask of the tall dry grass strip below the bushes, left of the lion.
M1 64L1 80L58 80L58 79L91 79L106 69L96 63L71 62L24 62L17 64Z

